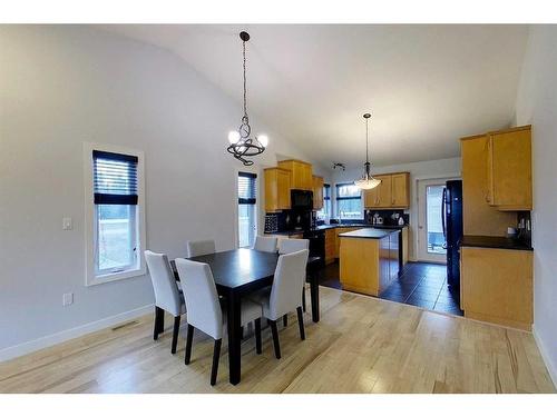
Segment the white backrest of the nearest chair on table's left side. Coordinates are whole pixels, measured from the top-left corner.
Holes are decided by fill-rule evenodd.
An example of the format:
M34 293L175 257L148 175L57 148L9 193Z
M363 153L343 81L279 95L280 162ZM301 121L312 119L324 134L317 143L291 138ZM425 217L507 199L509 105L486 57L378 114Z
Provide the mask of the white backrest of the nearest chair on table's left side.
M223 337L223 311L213 272L207 264L176 259L186 300L187 322L215 340Z

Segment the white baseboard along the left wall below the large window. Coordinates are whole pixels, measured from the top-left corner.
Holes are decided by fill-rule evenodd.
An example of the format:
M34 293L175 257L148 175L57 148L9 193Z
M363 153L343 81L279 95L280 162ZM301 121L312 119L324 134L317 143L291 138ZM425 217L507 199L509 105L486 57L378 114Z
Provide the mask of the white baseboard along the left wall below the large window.
M154 305L148 305L144 307L136 308L134 310L120 312L116 316L106 317L104 319L88 322L82 326L74 327L71 329L62 330L53 335L48 335L40 337L35 340L26 341L20 345L10 346L0 350L0 363L9 359L17 358L18 356L23 356L36 350L45 349L47 347L61 344L69 339L74 339L79 336L90 334L92 331L102 330L107 327L113 327L123 321L128 321L134 318L145 316L146 314L153 312Z

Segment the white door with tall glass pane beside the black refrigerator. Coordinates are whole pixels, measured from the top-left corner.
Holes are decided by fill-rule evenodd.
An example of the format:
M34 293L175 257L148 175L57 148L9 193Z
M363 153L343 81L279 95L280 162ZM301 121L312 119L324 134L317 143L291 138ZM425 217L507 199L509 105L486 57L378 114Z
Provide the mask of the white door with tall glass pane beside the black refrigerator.
M450 178L418 181L418 259L447 264L443 193Z

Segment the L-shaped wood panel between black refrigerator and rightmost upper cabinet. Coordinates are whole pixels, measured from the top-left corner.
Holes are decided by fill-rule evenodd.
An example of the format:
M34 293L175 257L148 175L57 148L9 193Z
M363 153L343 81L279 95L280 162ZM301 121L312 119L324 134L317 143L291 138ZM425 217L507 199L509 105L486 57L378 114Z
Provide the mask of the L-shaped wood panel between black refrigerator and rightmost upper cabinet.
M463 235L505 236L516 225L516 214L499 211L489 202L488 135L460 140L462 155Z

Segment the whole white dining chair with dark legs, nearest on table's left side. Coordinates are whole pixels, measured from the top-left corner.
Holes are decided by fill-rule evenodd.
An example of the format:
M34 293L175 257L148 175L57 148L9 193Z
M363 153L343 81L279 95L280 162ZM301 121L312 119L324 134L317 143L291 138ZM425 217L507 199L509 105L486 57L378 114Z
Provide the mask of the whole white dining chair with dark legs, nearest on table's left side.
M215 339L211 385L215 385L226 312L223 311L221 306L213 272L207 264L184 258L176 259L176 269L184 288L187 308L187 338L184 363L188 365L192 357L194 328L211 336ZM261 354L262 314L261 305L247 299L242 300L241 326L255 321L255 350L257 354Z

